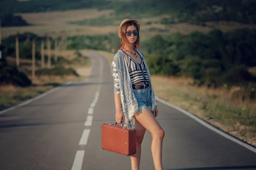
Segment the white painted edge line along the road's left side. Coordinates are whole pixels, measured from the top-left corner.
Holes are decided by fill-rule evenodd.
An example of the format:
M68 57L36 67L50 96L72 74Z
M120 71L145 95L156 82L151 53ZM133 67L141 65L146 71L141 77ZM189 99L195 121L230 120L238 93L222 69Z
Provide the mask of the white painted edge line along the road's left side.
M24 106L24 105L26 105L26 104L29 104L30 102L32 102L32 101L34 101L34 100L40 99L40 98L46 96L47 94L50 94L50 93L52 93L52 92L54 92L54 91L59 90L60 87L64 87L64 86L67 86L67 85L70 85L70 84L71 84L71 82L67 82L67 83L64 83L63 85L60 85L60 86L56 87L56 88L52 88L51 90L46 91L46 92L44 92L43 94L40 94L40 95L38 95L38 96L35 96L35 97L31 98L31 99L28 99L28 100L26 100L26 101L20 103L20 104L18 104L18 105L14 105L14 106L12 106L12 107L10 107L10 108L7 108L7 109L5 109L5 110L3 110L3 111L0 111L0 114L6 113L6 112L8 112L8 111L12 111L12 110L14 110L14 109L16 109L16 108L19 108L19 107L21 107L21 106Z

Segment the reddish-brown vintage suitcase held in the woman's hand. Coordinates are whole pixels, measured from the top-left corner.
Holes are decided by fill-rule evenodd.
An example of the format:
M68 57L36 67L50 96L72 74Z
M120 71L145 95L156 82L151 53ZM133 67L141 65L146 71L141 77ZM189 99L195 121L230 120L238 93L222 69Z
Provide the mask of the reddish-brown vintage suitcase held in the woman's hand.
M102 125L102 149L130 156L136 153L136 129L116 124Z

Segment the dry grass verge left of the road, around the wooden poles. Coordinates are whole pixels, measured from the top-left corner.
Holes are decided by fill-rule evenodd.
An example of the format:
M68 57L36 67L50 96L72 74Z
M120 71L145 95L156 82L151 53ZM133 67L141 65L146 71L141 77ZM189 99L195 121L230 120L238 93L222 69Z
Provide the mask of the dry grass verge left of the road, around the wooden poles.
M54 51L51 51L54 54ZM36 75L32 79L31 74L28 74L29 79L32 79L33 85L30 87L16 87L13 85L0 86L0 110L3 110L12 105L16 105L24 100L38 96L46 91L49 91L56 86L70 81L83 81L90 73L91 59L83 56L76 57L75 51L61 51L60 54L62 61L57 65L63 65L65 68L73 68L76 70L77 75ZM15 65L15 59L7 57L8 63ZM37 61L36 70L41 69L41 61ZM53 65L54 66L54 65ZM31 73L31 60L20 59L19 70Z

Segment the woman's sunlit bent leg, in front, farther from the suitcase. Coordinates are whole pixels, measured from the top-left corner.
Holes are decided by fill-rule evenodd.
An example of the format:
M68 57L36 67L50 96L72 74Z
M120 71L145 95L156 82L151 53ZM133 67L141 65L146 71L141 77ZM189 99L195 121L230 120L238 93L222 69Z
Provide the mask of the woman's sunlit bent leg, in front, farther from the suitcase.
M152 112L148 109L143 109L139 113L134 115L135 119L140 122L140 124L151 133L152 143L151 152L154 161L155 170L163 170L162 165L162 145L164 131L159 125Z

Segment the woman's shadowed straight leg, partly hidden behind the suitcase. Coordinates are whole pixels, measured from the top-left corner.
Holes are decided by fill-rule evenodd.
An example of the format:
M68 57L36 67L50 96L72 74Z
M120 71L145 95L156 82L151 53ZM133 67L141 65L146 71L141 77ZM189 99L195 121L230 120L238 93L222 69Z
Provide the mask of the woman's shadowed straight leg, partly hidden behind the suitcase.
M136 129L136 154L131 155L131 170L140 170L140 156L141 156L141 143L145 134L145 127L143 127L140 122L134 119L134 128Z

